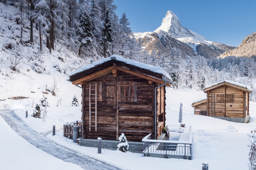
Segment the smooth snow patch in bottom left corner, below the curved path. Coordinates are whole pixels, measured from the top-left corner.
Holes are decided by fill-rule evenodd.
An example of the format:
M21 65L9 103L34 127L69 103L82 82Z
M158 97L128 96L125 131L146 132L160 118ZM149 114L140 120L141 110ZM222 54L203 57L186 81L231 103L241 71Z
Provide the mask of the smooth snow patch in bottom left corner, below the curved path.
M34 147L15 133L0 116L1 170L82 170Z

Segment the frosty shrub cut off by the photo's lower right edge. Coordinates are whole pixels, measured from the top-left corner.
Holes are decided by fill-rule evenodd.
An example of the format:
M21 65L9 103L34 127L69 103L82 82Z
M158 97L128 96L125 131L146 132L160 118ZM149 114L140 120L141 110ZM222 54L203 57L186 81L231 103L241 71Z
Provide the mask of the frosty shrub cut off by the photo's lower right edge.
M249 162L248 162L248 169L255 170L256 169L256 129L251 130L251 133L248 134L249 136L249 145L250 152L249 152Z

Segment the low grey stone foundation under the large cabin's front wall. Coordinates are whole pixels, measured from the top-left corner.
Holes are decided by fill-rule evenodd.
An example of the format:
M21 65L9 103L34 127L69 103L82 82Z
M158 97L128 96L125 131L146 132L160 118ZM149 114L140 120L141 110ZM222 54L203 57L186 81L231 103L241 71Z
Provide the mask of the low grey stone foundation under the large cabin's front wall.
M110 149L110 150L117 150L117 145L119 141L108 141L102 140L102 149ZM143 142L129 142L129 152L135 153L143 153ZM78 140L79 145L79 140ZM81 146L84 147L93 147L98 148L98 140L97 139L81 139Z

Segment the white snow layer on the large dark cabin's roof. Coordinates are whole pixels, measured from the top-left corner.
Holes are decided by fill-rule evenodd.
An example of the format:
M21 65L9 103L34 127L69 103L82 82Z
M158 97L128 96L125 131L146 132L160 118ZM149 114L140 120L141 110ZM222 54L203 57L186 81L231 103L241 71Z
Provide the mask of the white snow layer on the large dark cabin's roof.
M124 62L124 63L126 63L126 64L130 64L130 65L133 65L133 66L137 66L137 67L139 67L139 68L144 68L144 69L150 70L150 71L152 71L152 72L156 72L156 73L158 73L158 74L162 74L162 75L164 75L166 78L168 78L168 79L171 80L171 77L169 76L169 74L168 74L166 71L164 71L164 69L162 69L162 68L159 67L159 66L152 66L152 65L140 63L140 62L138 62L138 61L134 61L134 60L130 60L130 59L125 59L124 57L121 57L121 56L119 56L119 55L112 55L112 56L110 56L110 57L108 57L108 58L102 59L102 60L100 60L100 61L96 61L96 62L94 62L94 63L92 63L92 64L87 65L87 66L83 66L82 68L79 68L79 69L77 69L77 70L71 72L68 76L72 76L72 75L77 74L77 73L79 73L79 72L82 72L82 71L84 71L84 70L88 70L88 69L93 68L93 67L95 67L95 66L98 66L98 65L100 65L100 64L106 63L106 62L108 62L108 61L110 61L110 60L121 61L121 62Z

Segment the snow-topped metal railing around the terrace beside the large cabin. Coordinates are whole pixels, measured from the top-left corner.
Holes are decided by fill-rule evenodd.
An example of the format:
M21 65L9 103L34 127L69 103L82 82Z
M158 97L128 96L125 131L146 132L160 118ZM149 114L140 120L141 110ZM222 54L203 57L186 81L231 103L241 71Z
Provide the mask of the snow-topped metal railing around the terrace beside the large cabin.
M142 139L143 153L147 156L150 154L161 154L184 156L184 158L191 158L192 145L192 126L190 125L189 141L164 141L151 139L151 134Z

